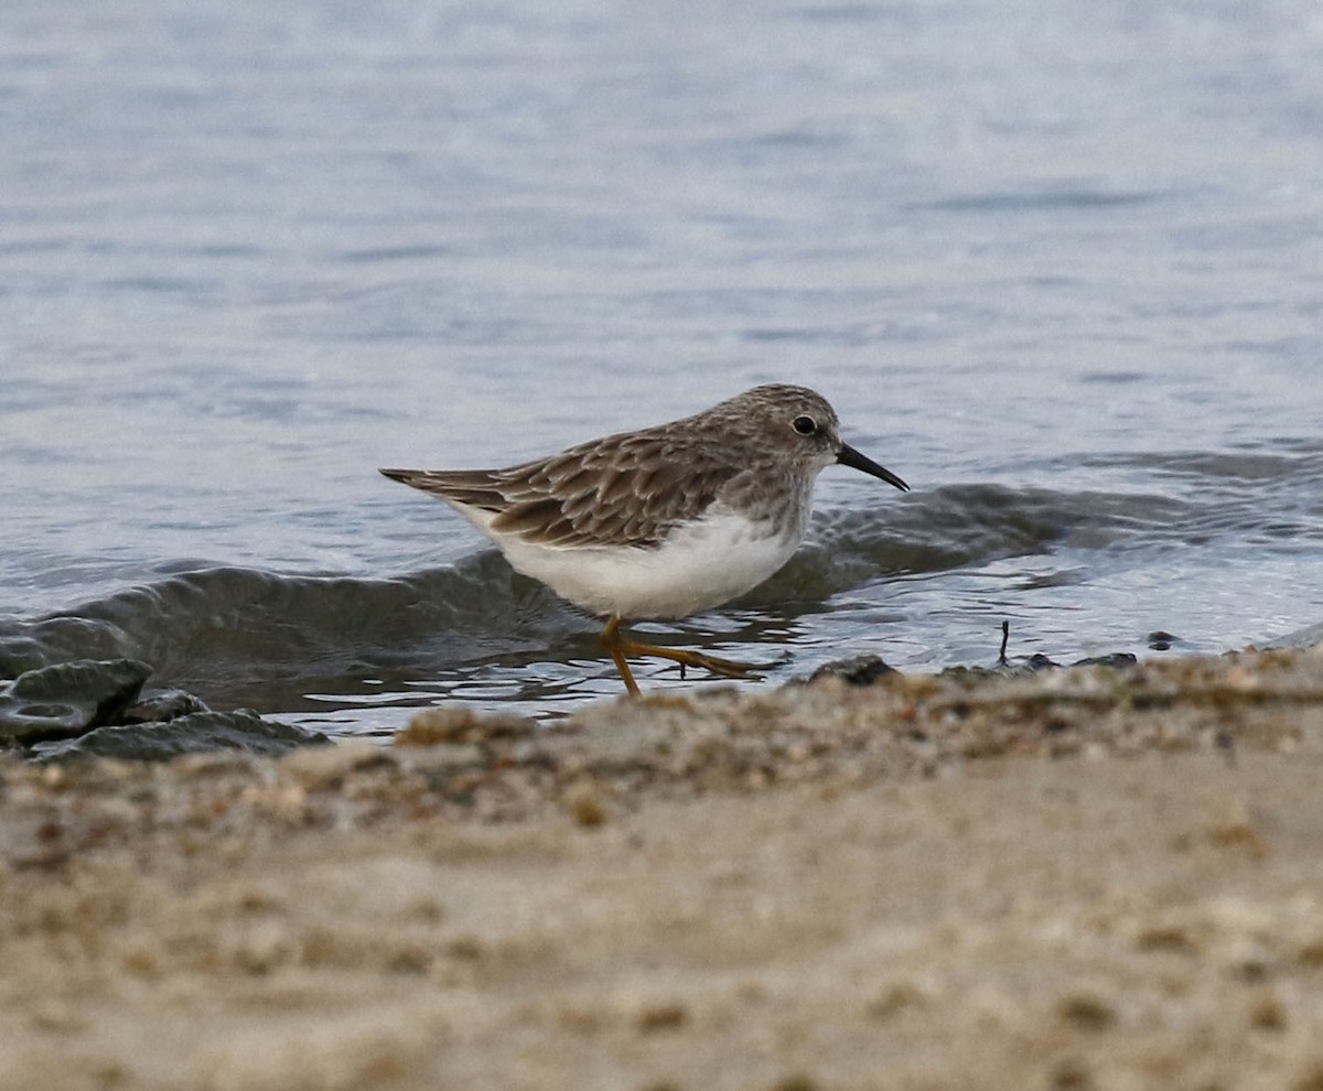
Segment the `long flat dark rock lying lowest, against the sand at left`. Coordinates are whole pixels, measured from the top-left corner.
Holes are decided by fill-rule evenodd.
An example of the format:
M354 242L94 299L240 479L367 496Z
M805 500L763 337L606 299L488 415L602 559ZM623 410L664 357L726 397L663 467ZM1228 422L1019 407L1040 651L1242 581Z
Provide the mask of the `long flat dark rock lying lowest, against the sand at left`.
M262 719L257 713L241 709L233 713L192 713L164 722L98 727L77 739L38 743L33 755L42 762L91 755L164 762L179 754L217 750L286 754L300 746L329 742L319 731Z

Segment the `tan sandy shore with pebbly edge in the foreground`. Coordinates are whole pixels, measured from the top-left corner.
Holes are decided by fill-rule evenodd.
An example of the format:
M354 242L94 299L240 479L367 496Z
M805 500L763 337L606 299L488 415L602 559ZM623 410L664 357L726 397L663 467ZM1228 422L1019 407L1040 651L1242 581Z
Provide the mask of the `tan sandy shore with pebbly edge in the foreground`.
M1323 1088L1323 655L0 762L3 1088Z

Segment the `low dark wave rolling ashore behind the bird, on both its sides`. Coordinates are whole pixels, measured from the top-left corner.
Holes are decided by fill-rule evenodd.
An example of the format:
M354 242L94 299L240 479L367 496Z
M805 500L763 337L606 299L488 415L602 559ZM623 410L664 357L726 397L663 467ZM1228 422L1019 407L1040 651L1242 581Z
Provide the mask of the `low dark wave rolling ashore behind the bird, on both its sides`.
M875 509L828 509L791 562L734 603L726 622L740 628L744 616L753 640L759 623L750 619L785 627L868 585L987 571L1007 558L1058 558L1057 567L1029 571L1031 587L1088 582L1118 563L1142 563L1144 550L1228 536L1237 545L1245 503L1244 491L1196 501L963 484ZM1257 517L1262 532L1262 512ZM1103 551L1106 562L1090 559ZM467 676L492 663L538 663L534 673L554 681L546 664L598 655L595 629L491 549L389 579L209 567L44 618L0 622L0 676L131 659L151 665L153 686L188 689L218 707L325 707L319 692L345 694L370 680L407 690L413 680ZM737 641L733 653L741 635L726 633Z

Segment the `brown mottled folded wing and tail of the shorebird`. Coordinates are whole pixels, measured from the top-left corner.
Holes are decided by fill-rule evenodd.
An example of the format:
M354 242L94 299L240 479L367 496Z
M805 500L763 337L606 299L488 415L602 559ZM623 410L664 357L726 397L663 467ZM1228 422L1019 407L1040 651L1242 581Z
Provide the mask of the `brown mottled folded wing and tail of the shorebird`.
M495 513L492 533L538 545L655 546L706 510L742 467L720 447L677 450L651 431L607 436L508 469L402 471L388 477Z

